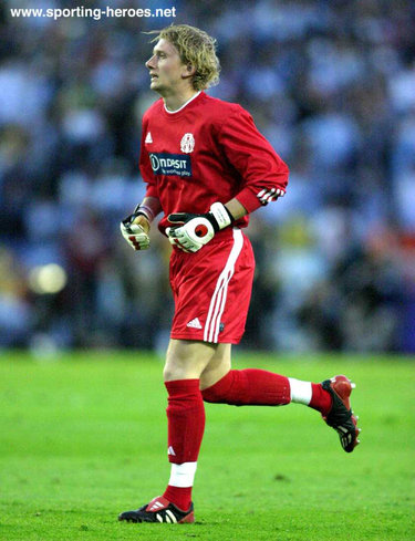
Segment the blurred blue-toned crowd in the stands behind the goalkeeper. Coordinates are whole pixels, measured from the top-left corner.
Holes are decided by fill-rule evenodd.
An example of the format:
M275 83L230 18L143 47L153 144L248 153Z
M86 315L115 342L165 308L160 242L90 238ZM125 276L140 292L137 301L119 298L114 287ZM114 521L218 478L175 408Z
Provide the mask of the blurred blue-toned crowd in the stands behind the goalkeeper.
M177 13L101 21L12 19L14 4L0 20L0 347L166 343L169 243L153 228L134 253L118 222L144 194L141 118L157 97L143 31L175 22L217 38L209 93L250 111L291 170L251 217L242 345L415 352L413 0L82 2ZM56 288L39 279L51 263Z

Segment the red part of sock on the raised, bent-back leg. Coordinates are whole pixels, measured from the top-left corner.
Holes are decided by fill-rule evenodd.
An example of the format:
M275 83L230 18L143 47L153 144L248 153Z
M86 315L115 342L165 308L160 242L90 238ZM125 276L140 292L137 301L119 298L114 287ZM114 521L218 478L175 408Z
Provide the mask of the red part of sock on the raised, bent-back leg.
M264 370L231 370L201 392L204 400L234 406L279 406L290 403L288 377Z

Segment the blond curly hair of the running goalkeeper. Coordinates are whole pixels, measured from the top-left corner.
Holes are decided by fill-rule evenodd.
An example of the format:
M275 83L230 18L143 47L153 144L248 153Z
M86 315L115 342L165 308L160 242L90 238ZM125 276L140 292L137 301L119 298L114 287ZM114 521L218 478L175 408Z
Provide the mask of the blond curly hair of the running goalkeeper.
M200 91L218 84L220 64L216 55L215 38L188 24L170 24L146 33L157 34L152 43L167 40L177 49L181 62L196 69L191 80L195 90Z

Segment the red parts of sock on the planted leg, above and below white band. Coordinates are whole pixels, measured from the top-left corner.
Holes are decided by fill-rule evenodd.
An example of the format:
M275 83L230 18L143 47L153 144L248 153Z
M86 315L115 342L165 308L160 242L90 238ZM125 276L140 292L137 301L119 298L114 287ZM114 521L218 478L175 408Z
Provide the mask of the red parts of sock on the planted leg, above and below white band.
M176 379L165 385L168 392L168 459L174 464L196 462L205 430L199 379ZM186 511L191 501L191 487L168 485L163 496Z

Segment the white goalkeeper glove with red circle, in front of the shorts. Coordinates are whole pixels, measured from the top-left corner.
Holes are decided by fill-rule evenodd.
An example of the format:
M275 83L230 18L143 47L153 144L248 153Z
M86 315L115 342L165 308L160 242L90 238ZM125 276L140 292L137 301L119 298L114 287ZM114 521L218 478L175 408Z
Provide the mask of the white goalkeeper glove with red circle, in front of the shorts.
M168 221L176 226L166 228L168 240L185 252L197 252L215 235L234 221L234 217L221 202L214 202L209 212L193 215L176 212L168 216Z

